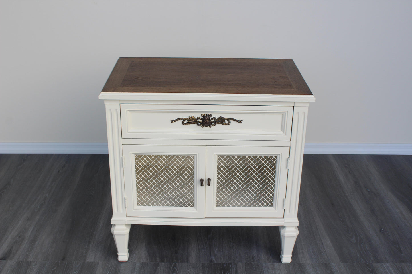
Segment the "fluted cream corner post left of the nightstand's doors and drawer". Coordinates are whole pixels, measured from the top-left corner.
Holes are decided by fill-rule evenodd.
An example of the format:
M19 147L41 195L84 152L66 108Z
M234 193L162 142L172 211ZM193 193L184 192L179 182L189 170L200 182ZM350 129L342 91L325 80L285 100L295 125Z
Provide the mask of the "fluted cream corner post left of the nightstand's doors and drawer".
M125 217L123 170L121 167L122 146L120 136L119 104L106 104L107 139L110 163L110 184L112 188L113 217Z

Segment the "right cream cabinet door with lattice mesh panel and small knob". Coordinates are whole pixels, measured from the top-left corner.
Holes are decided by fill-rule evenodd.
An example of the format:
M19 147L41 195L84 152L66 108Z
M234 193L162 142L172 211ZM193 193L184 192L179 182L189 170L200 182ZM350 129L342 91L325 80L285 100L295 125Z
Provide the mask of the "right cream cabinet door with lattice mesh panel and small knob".
M283 217L288 157L289 147L207 146L206 217Z

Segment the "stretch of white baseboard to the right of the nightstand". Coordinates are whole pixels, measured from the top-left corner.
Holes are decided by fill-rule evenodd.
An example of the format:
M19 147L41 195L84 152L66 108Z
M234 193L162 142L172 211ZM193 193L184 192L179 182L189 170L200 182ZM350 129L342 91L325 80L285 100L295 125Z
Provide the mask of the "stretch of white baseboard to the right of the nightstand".
M304 154L412 155L412 144L305 143Z

